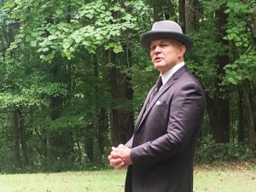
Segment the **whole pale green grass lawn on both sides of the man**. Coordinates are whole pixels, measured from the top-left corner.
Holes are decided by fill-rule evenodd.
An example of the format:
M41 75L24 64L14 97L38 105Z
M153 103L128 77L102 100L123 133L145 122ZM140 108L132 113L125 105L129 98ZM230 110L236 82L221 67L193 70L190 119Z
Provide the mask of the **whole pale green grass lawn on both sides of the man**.
M1 192L119 192L125 171L0 175ZM254 192L256 166L195 167L195 192Z

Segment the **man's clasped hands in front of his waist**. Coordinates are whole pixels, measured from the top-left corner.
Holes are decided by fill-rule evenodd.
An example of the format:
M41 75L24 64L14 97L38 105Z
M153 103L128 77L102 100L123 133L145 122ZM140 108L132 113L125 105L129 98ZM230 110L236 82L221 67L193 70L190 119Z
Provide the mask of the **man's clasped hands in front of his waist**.
M115 169L124 169L132 164L131 148L123 144L119 144L117 148L112 147L111 153L108 155L109 165Z

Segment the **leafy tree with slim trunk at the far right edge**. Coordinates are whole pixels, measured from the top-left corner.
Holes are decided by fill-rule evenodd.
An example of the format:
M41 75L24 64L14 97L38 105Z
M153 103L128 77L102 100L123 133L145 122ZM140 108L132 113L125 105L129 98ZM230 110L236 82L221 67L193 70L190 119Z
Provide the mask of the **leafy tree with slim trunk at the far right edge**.
M227 30L228 39L232 44L233 62L225 67L227 76L226 82L229 84L237 84L241 87L245 119L248 127L248 134L251 143L256 143L255 122L253 111L253 87L255 84L255 15L256 7L252 1L232 1L228 3L229 8L236 12L230 12L229 26ZM246 17L247 20L241 20Z

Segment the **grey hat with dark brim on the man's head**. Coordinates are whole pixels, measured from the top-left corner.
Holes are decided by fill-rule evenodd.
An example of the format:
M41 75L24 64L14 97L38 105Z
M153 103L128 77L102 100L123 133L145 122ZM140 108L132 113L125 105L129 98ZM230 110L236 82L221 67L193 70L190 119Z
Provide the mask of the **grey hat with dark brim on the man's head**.
M160 38L172 38L184 44L187 50L193 46L191 38L183 34L182 28L172 20L154 22L151 31L143 33L141 44L145 49L150 49L150 42Z

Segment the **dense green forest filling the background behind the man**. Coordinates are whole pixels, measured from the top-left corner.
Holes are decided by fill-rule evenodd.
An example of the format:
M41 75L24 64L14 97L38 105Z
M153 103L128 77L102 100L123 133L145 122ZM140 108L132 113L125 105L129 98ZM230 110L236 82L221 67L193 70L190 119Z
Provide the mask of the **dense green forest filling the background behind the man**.
M158 76L139 43L156 20L194 41L195 160L255 162L255 0L0 0L0 172L108 168Z

